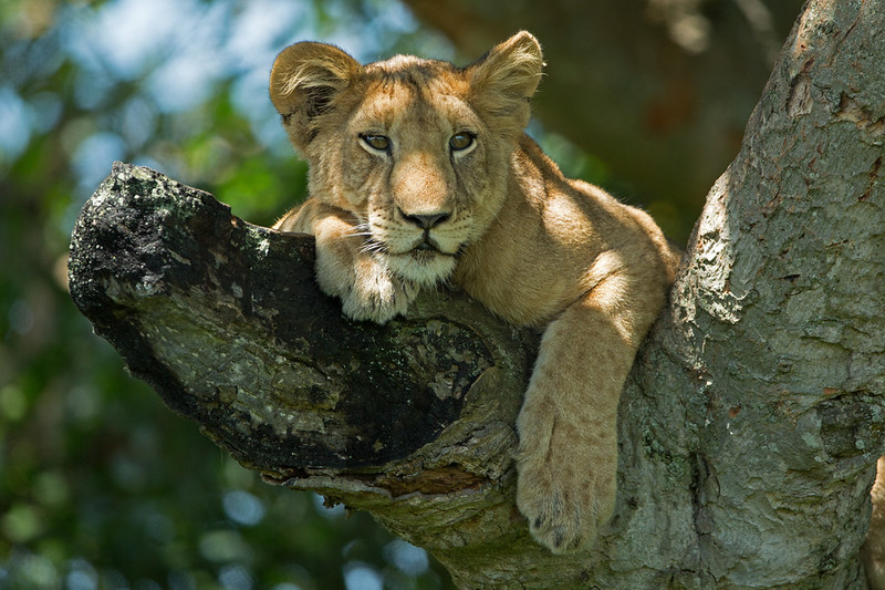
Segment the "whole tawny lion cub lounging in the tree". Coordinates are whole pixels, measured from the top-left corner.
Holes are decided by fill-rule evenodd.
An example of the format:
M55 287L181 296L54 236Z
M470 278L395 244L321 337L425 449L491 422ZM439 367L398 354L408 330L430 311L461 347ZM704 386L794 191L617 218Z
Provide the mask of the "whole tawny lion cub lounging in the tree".
M544 328L517 424L517 504L564 552L614 509L618 397L678 253L650 217L565 178L524 134L542 65L527 32L467 68L287 48L270 94L311 197L274 227L316 237L316 279L350 318L384 323L449 282Z

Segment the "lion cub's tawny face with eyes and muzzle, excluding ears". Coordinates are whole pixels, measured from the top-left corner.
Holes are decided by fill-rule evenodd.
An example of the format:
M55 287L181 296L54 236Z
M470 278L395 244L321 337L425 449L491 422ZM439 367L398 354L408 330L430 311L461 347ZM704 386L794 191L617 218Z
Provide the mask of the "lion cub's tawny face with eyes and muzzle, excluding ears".
M500 207L502 187L488 170L506 167L509 152L458 76L417 63L372 66L350 116L320 130L327 144L313 161L311 194L353 211L366 248L394 272L434 283Z

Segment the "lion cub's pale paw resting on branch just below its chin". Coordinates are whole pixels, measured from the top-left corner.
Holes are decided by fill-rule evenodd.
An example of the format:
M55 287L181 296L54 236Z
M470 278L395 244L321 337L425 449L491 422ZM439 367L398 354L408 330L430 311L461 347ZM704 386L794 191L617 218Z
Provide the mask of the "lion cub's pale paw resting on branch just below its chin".
M418 294L418 288L391 273L373 258L357 260L354 283L342 294L342 311L354 320L385 323L402 315Z

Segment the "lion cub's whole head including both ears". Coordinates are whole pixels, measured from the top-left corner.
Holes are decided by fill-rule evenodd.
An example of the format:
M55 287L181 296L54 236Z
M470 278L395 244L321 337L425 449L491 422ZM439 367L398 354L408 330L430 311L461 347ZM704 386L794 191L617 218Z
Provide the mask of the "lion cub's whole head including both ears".
M361 65L303 42L277 58L270 93L310 163L311 195L351 211L391 270L429 284L502 206L542 65L527 32L467 68L406 55Z

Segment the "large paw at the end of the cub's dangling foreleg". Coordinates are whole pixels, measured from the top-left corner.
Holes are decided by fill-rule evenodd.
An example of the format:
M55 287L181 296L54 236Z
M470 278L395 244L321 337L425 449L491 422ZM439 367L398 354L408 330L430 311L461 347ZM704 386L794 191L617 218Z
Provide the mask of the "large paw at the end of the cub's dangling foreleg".
M562 426L554 421L544 436L529 428L517 465L517 506L532 537L554 553L592 544L614 510L616 493L616 447L589 444ZM592 438L602 443L604 437Z

